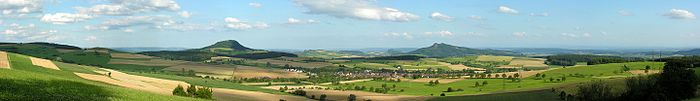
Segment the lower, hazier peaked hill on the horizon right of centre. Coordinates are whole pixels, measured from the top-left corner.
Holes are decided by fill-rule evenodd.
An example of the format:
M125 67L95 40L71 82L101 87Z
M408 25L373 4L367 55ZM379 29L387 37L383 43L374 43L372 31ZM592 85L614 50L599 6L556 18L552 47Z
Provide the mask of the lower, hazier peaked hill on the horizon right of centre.
M421 54L428 57L450 57L450 56L465 56L465 55L518 55L518 53L502 50L491 49L474 49L453 46L444 43L435 43L430 47L420 48L409 54Z

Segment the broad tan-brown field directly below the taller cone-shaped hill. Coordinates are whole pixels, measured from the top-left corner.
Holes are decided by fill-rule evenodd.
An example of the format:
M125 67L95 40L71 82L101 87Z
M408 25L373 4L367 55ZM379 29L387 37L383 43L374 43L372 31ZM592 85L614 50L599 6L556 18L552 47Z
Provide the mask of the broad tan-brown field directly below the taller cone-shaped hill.
M209 65L200 63L185 63L173 67L165 68L169 71L194 70L195 72L203 73L202 75L218 76L226 78L231 75L242 78L270 77L270 78L306 78L304 73L290 72L281 69L264 69L259 67L240 66L240 65Z

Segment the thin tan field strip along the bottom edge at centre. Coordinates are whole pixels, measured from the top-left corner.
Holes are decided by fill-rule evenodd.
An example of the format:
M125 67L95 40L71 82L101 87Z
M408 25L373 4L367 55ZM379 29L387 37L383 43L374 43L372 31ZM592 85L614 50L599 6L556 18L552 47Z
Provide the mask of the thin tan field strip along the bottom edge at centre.
M427 96L410 96L410 95L393 95L381 94L364 91L340 91L340 90L319 90L319 89L304 89L307 96L315 95L316 98L321 94L326 94L330 101L346 101L350 94L355 94L358 101L425 101L430 99Z

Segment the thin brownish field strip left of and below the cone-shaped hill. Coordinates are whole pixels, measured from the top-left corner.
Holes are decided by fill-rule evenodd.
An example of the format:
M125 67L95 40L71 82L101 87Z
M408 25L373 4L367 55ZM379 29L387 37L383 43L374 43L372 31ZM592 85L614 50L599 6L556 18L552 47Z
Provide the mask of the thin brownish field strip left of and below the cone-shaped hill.
M164 59L148 59L148 60L129 60L129 59L110 59L109 64L132 64L143 66L174 66L187 63L187 61L179 60L164 60Z

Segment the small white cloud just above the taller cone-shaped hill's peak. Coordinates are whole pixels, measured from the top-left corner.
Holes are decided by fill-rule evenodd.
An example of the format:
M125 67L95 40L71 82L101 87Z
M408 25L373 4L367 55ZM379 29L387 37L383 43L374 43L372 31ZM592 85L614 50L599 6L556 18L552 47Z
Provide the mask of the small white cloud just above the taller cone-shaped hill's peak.
M238 18L232 18L232 17L226 17L224 19L224 22L226 22L225 26L227 28L230 28L233 30L265 29L265 28L270 27L267 23L264 23L264 22L249 23L249 22L239 20Z

